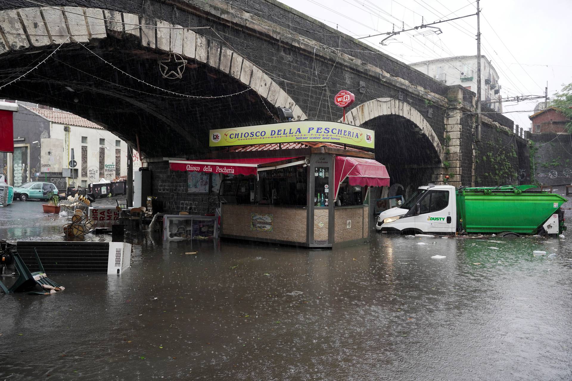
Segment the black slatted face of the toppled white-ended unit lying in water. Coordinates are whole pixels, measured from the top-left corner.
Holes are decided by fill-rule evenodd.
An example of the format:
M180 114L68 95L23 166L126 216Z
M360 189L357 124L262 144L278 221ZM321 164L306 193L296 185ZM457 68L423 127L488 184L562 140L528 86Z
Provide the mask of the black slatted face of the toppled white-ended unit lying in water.
M38 271L34 247L47 274L107 274L109 242L18 241L30 271Z

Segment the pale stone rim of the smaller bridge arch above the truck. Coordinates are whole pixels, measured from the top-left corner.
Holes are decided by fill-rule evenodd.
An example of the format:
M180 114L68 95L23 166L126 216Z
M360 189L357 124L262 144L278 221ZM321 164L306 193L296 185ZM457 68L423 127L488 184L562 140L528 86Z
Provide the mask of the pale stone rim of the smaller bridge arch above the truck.
M443 159L443 146L439 142L435 131L427 120L414 107L406 102L393 98L377 98L352 109L345 114L347 123L350 125L360 126L371 119L381 117L383 115L401 115L413 122L424 135L429 139L435 148L439 158ZM341 122L342 119L339 120Z

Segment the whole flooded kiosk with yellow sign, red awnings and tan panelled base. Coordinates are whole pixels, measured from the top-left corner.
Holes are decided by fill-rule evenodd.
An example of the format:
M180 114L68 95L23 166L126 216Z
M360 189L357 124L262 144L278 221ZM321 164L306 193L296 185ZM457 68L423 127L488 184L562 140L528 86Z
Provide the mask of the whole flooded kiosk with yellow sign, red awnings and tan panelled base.
M368 240L368 191L389 186L374 144L374 131L338 122L211 130L224 148L169 168L217 177L221 237L337 247Z

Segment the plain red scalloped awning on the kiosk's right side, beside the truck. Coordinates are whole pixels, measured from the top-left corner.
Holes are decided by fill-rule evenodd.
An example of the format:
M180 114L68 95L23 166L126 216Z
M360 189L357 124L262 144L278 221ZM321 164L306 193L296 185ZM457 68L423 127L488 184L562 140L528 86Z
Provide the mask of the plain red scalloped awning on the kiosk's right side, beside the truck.
M390 175L386 166L374 159L348 158L336 156L334 171L334 195L340 184L348 179L349 185L361 185L370 187L383 187L390 185Z

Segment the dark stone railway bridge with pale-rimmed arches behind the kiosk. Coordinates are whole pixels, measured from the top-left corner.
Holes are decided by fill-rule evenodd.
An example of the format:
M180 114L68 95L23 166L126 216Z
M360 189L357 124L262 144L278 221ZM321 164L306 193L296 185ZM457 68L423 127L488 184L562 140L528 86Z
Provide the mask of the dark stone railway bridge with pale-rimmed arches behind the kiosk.
M168 63L184 69L180 79L160 74L169 52L185 60ZM474 138L474 93L275 0L2 2L0 67L0 98L81 115L138 141L145 157L204 154L209 129L267 123L277 107L337 120L333 95L347 89L356 94L347 122L376 131L394 182L449 174L454 185L486 185L494 170L478 165L486 147ZM518 151L515 173L526 166L510 119L487 114L483 129L483 141Z

